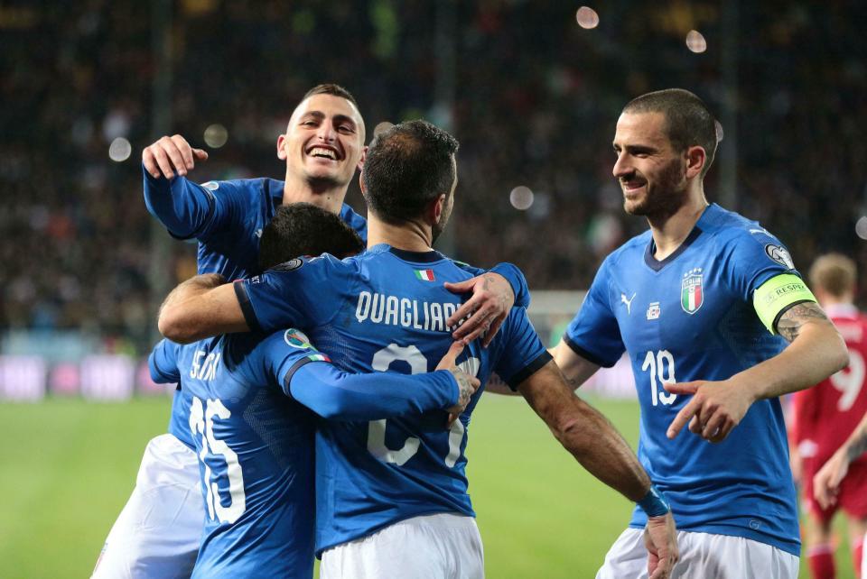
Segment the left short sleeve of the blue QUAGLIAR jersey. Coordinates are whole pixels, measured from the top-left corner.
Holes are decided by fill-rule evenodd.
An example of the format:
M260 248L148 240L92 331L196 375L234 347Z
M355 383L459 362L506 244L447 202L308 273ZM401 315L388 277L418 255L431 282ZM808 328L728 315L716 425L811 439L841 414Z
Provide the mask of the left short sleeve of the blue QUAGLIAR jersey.
M235 282L247 326L274 332L288 326L320 326L334 314L346 266L325 254L281 263L262 275Z

